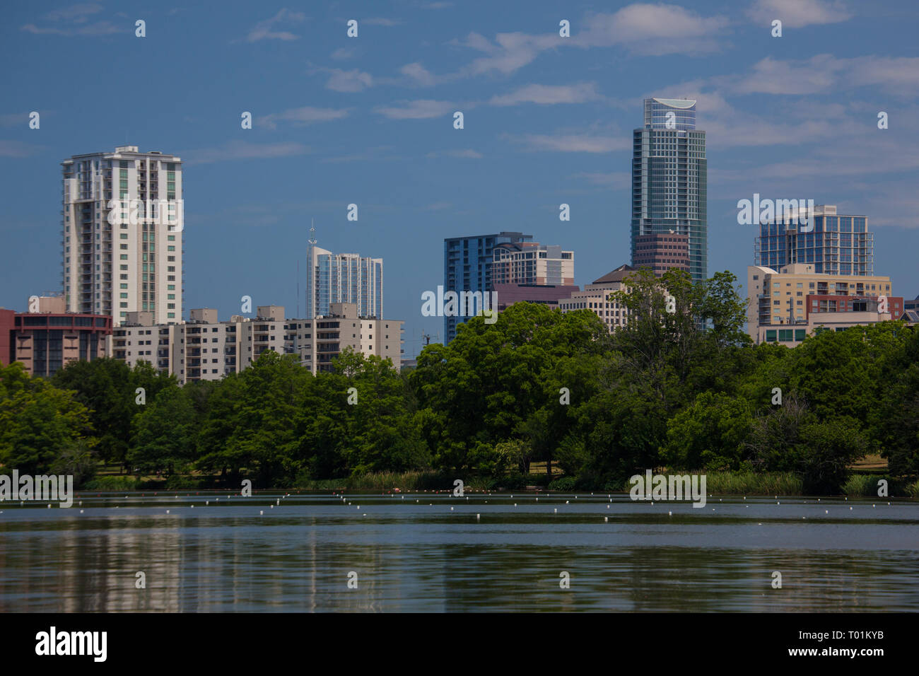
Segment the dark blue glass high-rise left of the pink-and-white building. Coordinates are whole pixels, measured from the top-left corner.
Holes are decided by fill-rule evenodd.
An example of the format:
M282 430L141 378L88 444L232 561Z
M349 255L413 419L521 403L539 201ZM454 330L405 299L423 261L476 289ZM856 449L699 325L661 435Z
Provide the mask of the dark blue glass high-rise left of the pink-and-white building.
M444 239L444 292L493 292L494 247L502 244L520 244L532 240L533 235L502 232L496 235L472 235ZM444 316L444 345L456 338L457 325L462 318L476 314L476 308L467 306L460 295L459 316Z

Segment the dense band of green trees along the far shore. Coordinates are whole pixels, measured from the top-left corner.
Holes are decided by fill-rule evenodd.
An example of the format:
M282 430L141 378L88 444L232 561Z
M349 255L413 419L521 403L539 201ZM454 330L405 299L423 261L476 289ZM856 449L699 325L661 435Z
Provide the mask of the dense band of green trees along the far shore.
M590 310L514 304L494 324L471 318L402 373L351 351L313 376L269 350L184 386L147 362L74 361L48 380L0 366L0 464L78 484L117 464L290 487L409 470L528 474L539 462L601 490L667 467L793 472L819 493L868 453L891 475L919 473L919 332L885 322L794 349L753 345L735 282L633 273L613 294L629 311L613 333Z

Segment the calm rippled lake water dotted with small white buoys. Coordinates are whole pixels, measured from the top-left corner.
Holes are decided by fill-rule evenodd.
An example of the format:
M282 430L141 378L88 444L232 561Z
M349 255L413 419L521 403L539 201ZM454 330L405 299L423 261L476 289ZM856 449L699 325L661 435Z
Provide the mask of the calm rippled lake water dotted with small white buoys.
M535 498L2 502L0 612L919 611L913 501Z

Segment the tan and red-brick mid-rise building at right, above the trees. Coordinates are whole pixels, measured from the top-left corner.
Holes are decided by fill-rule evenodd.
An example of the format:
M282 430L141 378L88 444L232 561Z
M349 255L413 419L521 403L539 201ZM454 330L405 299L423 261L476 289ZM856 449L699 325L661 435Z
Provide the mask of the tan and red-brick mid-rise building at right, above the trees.
M903 299L891 296L891 278L814 272L810 263L780 270L747 268L747 333L754 343L780 342L791 347L822 330L845 330L889 321L903 311Z

